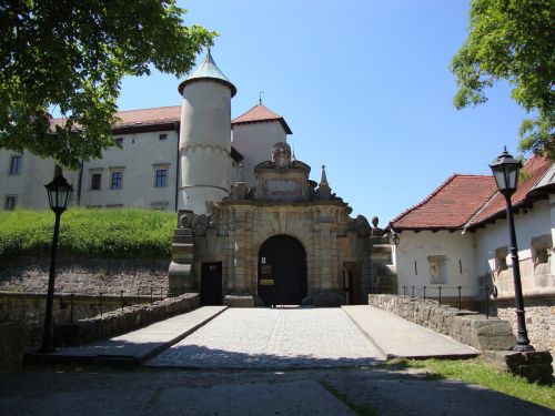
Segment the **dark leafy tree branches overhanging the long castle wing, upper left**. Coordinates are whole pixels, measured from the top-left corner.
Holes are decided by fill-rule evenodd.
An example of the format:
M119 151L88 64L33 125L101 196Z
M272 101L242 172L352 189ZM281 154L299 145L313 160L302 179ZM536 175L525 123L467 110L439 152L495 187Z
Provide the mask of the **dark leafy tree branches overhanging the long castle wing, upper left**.
M185 74L215 32L175 0L0 0L0 148L77 168L117 145L125 75ZM51 125L49 109L62 114Z

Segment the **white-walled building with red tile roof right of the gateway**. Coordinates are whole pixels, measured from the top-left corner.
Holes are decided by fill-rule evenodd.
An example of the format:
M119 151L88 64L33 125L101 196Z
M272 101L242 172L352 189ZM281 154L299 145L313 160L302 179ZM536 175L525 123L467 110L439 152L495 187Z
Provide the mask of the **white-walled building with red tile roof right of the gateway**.
M528 337L536 348L553 352L555 169L543 158L532 158L523 171L525 179L512 203ZM492 302L492 313L508 319L516 333L506 203L492 180L453 175L390 223L400 233L395 250L400 293L412 295L415 286L415 295L422 296L426 286L426 296L437 297L442 286L446 297L457 292L448 287L462 286L463 297L483 300L484 285L494 284L498 301ZM441 283L437 275L444 277Z

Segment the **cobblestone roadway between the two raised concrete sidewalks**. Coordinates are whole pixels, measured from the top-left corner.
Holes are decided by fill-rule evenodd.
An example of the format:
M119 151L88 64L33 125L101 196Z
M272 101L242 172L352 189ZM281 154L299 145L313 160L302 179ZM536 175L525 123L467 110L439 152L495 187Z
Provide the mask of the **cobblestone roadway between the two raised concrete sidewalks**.
M377 362L380 353L341 308L230 308L148 365L287 368Z

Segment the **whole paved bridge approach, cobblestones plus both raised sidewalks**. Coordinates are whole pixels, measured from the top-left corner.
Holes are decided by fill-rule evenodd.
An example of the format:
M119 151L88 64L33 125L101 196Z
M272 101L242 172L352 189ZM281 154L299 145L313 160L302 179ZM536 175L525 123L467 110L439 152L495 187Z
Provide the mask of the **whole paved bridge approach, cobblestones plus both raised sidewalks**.
M366 366L393 357L462 358L478 354L470 346L367 305L230 310L204 306L110 339L62 348L48 356L34 355L30 361L37 357L47 362L147 362L150 366L191 368L317 368Z

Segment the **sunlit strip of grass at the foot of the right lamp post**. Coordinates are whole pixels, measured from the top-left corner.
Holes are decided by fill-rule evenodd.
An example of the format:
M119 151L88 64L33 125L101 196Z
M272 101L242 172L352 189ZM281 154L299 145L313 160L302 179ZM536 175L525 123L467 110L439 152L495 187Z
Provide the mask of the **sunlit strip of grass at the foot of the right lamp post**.
M525 378L504 372L494 363L483 359L426 359L407 361L407 366L426 368L432 375L477 384L496 392L555 409L555 386L541 386Z

